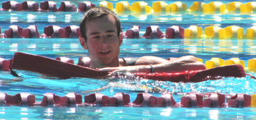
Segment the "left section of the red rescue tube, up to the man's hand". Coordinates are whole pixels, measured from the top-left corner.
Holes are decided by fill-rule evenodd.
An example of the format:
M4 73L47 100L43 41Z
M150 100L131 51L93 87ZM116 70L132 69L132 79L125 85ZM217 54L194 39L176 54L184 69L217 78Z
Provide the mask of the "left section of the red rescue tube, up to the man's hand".
M10 66L13 70L32 71L45 76L59 77L62 79L68 79L70 77L99 78L108 74L108 72L100 72L56 59L21 52L14 53L14 58Z

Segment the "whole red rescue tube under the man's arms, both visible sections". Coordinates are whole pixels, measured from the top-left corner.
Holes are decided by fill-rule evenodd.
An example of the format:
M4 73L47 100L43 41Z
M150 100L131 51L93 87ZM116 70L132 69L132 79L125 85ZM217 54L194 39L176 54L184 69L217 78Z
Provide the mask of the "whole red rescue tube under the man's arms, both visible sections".
M46 76L68 79L70 77L105 78L108 72L101 72L80 65L69 64L39 55L16 52L11 60L13 70L32 71ZM180 73L134 73L143 79L170 82L202 82L219 77L245 77L242 65L226 65L208 70L185 71Z

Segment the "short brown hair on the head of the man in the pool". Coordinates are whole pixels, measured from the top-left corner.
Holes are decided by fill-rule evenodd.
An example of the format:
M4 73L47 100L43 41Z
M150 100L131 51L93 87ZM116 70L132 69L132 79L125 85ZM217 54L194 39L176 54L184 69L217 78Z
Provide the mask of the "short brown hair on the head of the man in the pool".
M81 32L82 37L85 39L85 41L87 41L86 22L88 22L91 19L94 19L96 17L103 17L107 14L110 14L111 16L113 16L115 18L115 25L117 26L117 35L119 37L121 24L120 24L120 19L117 16L117 14L115 14L113 11L109 10L108 8L94 7L94 8L91 8L90 10L86 11L85 14L83 14L83 17L80 22L80 32Z

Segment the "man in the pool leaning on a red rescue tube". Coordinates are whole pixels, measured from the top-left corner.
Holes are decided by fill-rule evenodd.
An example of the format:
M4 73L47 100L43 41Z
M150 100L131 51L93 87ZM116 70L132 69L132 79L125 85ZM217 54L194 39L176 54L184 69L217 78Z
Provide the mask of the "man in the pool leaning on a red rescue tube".
M113 11L104 7L91 8L80 22L82 36L80 44L88 50L89 67L100 71L125 73L173 73L187 70L205 70L202 62L194 56L182 56L170 61L156 56L141 58L119 58L123 34L120 19Z

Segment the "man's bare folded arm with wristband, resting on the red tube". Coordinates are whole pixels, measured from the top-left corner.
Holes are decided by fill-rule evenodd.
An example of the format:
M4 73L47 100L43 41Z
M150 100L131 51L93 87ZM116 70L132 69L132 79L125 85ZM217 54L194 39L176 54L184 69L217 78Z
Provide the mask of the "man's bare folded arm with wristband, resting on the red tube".
M130 73L150 73L151 66L155 70L155 73L174 73L187 70L205 70L206 67L202 62L197 61L194 56L182 56L181 58L172 59L167 61L162 58L154 56L146 56L144 58L139 58L136 61L135 66L127 67L110 67L110 68L101 68L100 71L114 71L111 74L117 72L130 72Z

